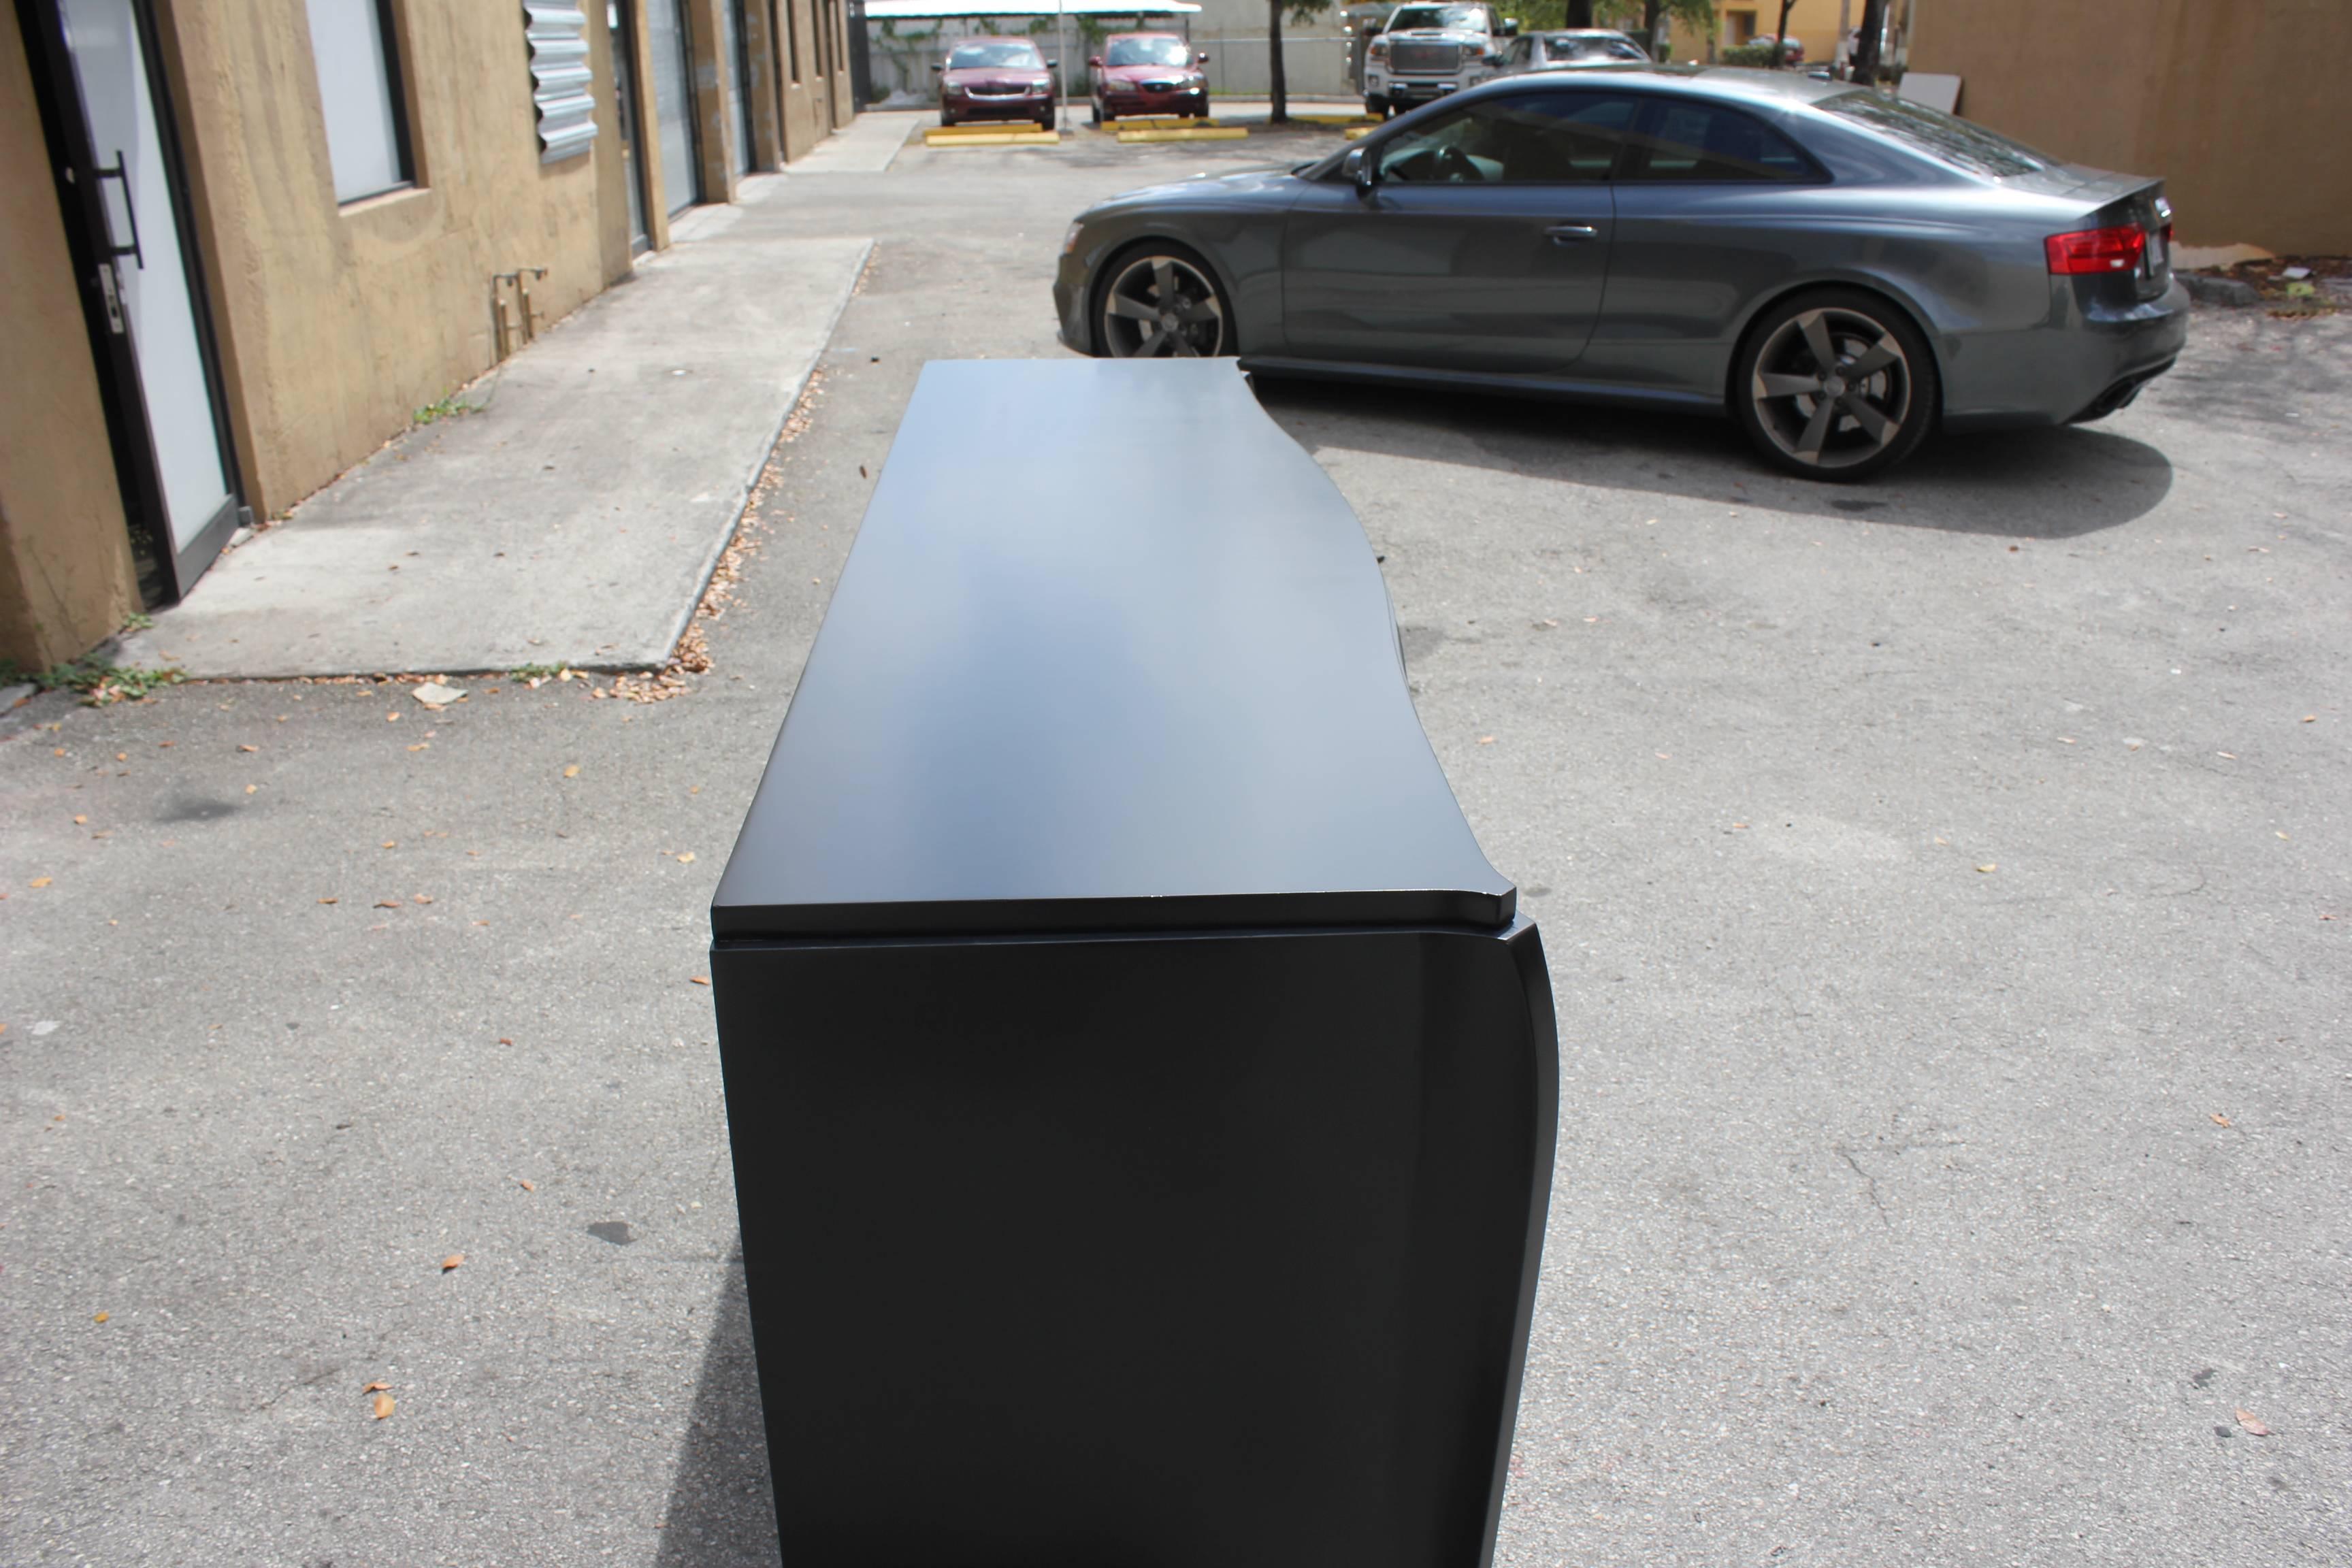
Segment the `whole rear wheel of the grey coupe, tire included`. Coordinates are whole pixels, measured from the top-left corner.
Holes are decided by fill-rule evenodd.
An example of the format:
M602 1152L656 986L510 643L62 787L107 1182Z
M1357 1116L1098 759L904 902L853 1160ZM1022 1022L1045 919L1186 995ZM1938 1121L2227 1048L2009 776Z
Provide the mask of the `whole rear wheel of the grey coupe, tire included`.
M1851 482L1919 449L1936 390L1936 357L1907 315L1860 289L1823 289L1755 324L1731 411L1776 468Z

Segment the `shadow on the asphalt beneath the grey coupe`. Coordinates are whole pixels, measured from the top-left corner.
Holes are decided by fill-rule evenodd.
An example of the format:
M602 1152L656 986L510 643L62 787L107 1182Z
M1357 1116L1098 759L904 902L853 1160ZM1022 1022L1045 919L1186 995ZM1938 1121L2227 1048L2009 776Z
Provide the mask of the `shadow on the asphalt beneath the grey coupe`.
M1943 435L1879 480L1823 484L1764 468L1726 418L1268 376L1256 386L1308 451L1383 451L1955 534L2074 538L2147 515L2173 487L2161 451L2086 425Z

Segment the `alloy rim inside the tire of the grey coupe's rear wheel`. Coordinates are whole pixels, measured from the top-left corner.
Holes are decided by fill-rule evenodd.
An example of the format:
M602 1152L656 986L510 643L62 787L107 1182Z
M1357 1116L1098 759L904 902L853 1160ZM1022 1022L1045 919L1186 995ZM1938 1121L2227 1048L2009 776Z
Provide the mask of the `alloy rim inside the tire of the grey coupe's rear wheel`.
M1823 306L1764 339L1748 395L1773 447L1795 463L1835 470L1867 463L1903 435L1915 378L1886 324Z

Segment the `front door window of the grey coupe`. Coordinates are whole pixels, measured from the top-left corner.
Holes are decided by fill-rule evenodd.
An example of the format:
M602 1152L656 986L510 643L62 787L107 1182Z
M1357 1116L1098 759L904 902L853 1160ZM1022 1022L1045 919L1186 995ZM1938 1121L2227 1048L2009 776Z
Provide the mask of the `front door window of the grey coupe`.
M1409 186L1581 186L1606 181L1637 103L1597 92L1479 99L1390 136L1381 179Z

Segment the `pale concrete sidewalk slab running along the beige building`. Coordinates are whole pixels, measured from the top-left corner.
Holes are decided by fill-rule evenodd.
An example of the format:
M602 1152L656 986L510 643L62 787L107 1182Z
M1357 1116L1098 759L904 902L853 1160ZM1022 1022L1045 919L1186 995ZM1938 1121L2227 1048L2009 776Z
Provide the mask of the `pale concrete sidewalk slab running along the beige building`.
M409 430L223 555L122 661L659 665L873 249L795 235L774 200L793 179L682 219L673 249L475 383L473 414Z

